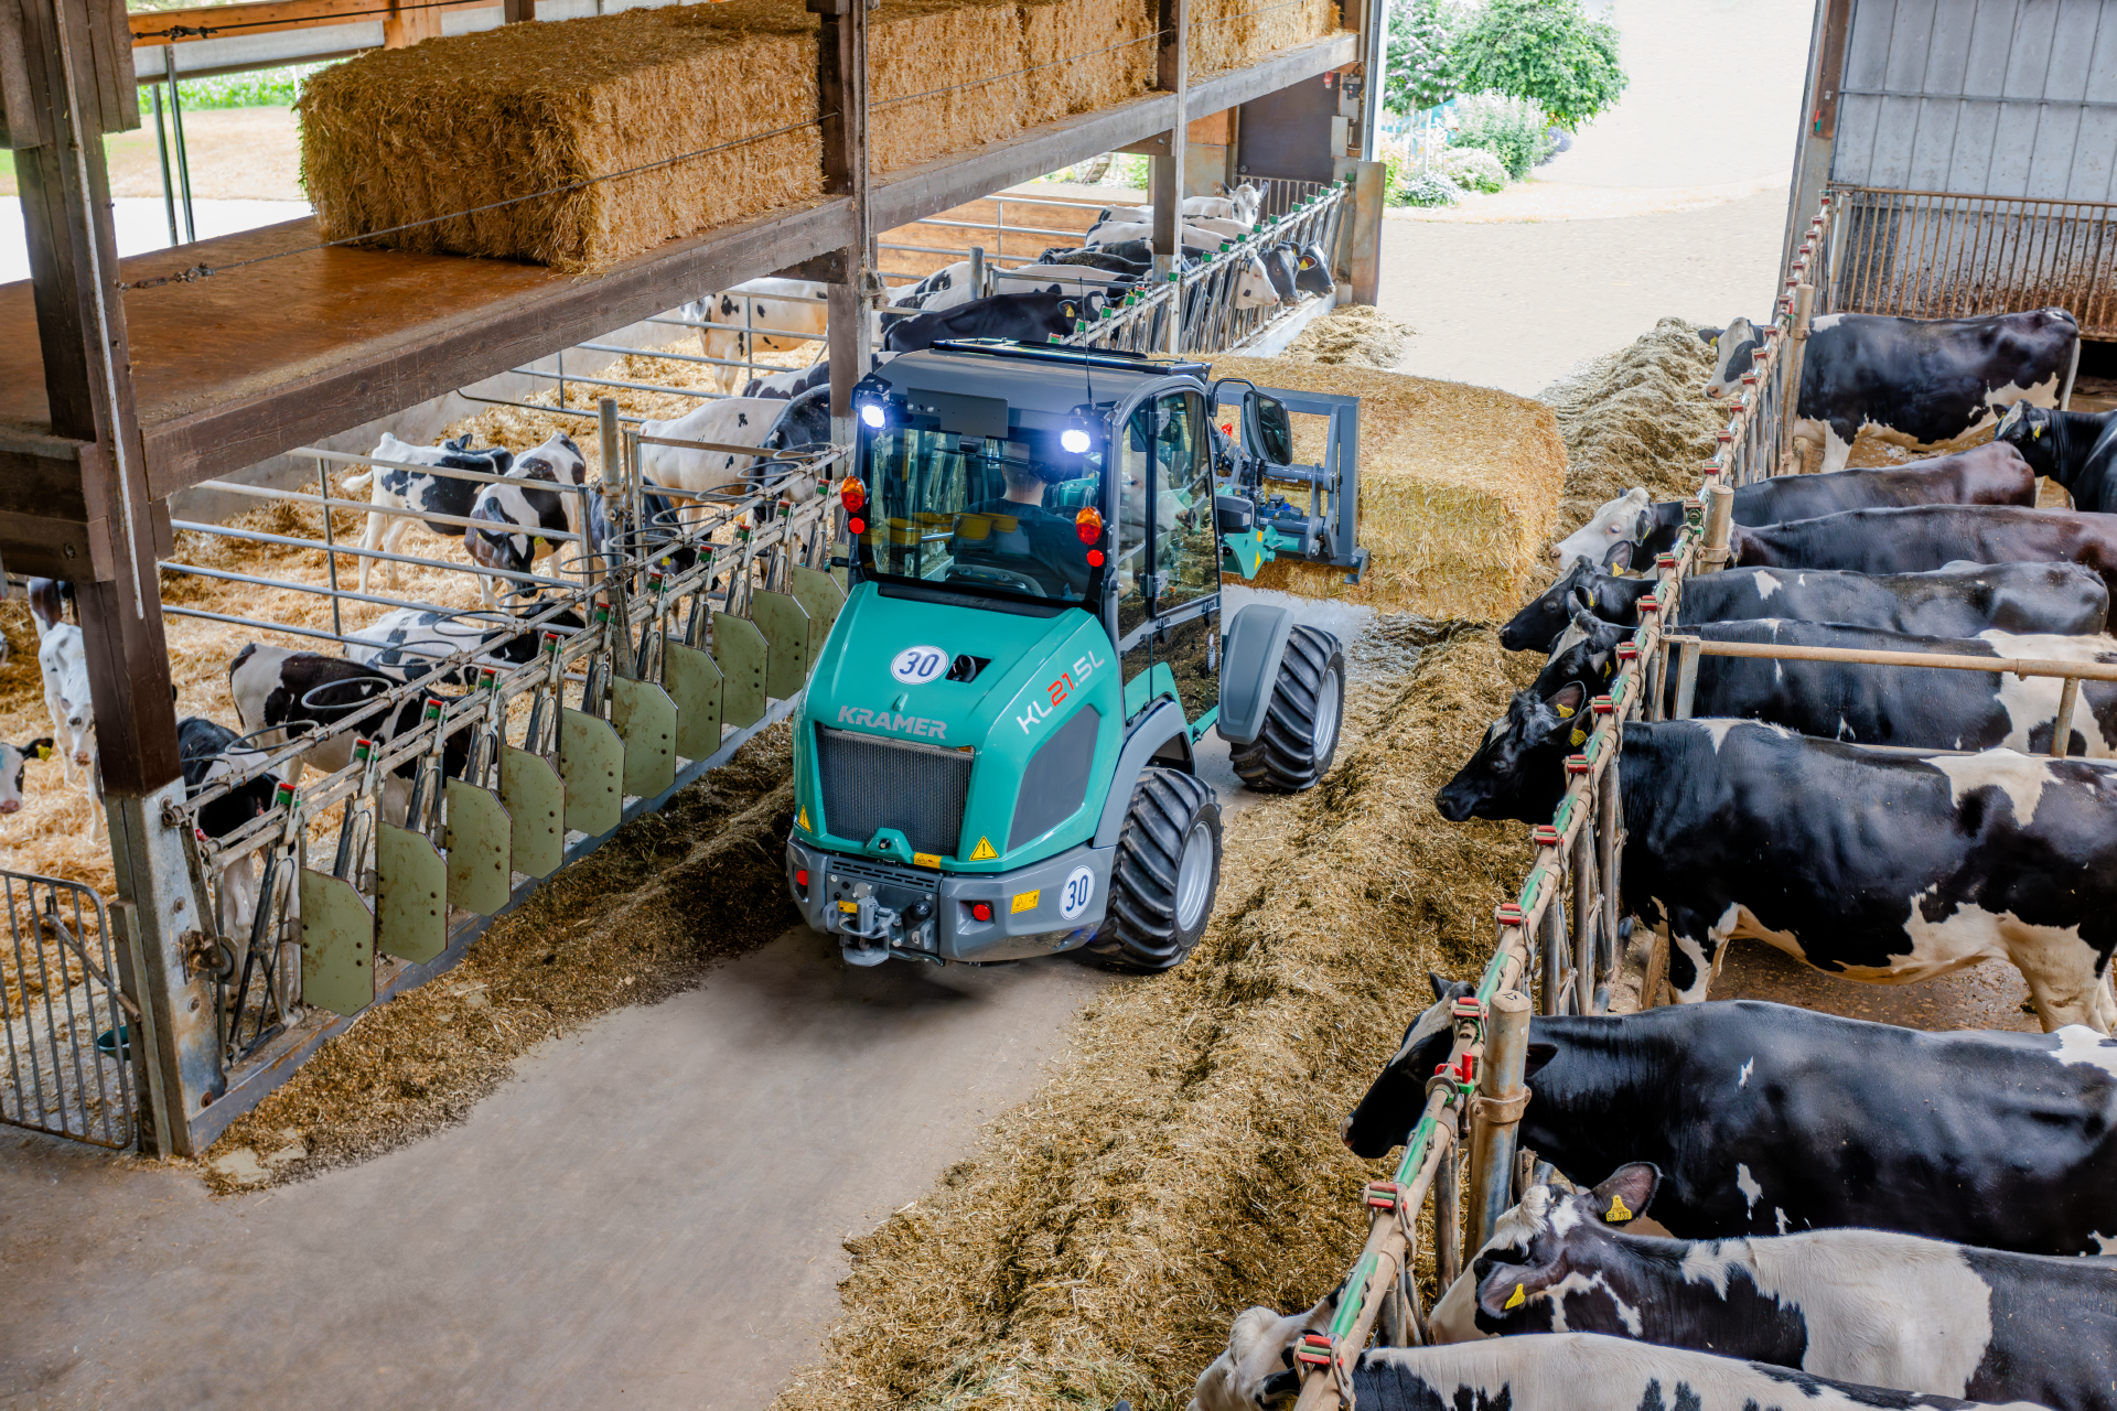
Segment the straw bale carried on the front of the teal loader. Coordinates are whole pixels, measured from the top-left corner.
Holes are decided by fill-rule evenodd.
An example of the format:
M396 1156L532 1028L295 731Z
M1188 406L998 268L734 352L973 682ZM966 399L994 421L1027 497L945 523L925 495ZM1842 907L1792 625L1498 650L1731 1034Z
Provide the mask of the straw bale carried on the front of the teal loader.
M1361 398L1368 573L1346 584L1338 569L1279 561L1264 565L1257 586L1473 622L1505 618L1522 601L1567 478L1548 406L1492 387L1289 358L1219 358L1213 377ZM1321 461L1321 417L1296 415L1293 429L1296 455Z

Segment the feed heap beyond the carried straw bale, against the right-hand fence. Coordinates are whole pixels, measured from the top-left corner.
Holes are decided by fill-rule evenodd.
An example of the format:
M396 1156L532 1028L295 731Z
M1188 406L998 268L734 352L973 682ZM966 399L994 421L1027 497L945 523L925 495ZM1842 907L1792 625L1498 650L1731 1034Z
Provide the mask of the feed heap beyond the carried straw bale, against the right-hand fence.
M1552 537L1586 523L1600 503L1634 484L1653 499L1698 491L1727 408L1708 402L1713 347L1687 319L1662 319L1630 347L1592 358L1537 393L1558 413L1567 442L1564 499Z

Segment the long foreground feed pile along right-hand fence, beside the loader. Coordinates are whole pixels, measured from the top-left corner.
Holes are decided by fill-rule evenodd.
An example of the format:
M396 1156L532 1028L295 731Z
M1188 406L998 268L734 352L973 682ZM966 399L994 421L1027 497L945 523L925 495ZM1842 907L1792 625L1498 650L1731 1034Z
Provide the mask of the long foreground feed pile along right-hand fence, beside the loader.
M1524 829L1446 823L1433 791L1535 664L1467 628L1357 688L1323 785L1230 814L1198 950L1105 990L1035 1098L849 1242L845 1318L775 1411L1175 1411L1238 1309L1344 1278L1359 1187L1391 1166L1346 1153L1338 1121L1429 1003L1427 969L1478 971L1531 861Z

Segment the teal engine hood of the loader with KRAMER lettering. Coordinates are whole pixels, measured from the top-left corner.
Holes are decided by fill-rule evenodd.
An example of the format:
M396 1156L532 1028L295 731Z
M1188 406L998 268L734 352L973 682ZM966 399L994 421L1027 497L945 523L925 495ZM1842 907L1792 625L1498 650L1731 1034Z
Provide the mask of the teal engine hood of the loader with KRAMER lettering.
M1056 605L1054 605L1056 607ZM1084 607L995 611L862 582L794 734L794 833L936 872L1003 872L1086 842L1122 683Z

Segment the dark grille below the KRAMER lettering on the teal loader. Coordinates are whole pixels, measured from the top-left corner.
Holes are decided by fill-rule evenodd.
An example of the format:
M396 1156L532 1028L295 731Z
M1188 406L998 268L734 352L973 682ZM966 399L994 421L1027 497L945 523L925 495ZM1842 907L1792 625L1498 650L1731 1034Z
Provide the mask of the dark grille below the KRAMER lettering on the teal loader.
M826 831L866 842L893 827L912 853L955 857L972 755L817 726L815 762Z

